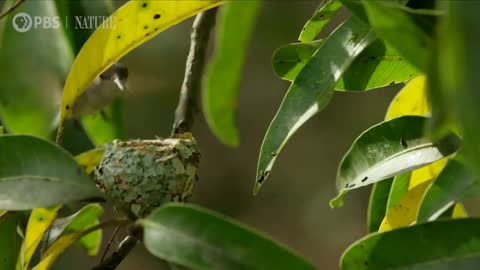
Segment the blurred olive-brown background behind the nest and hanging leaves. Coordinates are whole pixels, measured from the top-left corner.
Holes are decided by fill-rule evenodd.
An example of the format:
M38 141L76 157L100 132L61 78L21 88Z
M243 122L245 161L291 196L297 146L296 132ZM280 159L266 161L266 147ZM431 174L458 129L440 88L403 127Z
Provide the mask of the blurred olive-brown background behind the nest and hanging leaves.
M116 6L121 3L116 2ZM343 250L366 234L370 188L349 194L343 208L330 209L328 202L336 194L336 168L353 140L369 126L382 121L398 86L367 93L337 92L327 109L291 139L268 183L259 195L252 195L264 133L289 85L274 75L271 56L279 46L297 40L318 3L264 2L241 85L240 146L232 149L222 145L209 131L203 116L196 117L194 135L202 159L200 181L191 202L267 233L304 255L319 269L337 269ZM192 21L161 33L122 60L130 70L124 112L129 138L169 135ZM332 29L329 27L323 35ZM0 63L5 64L8 65ZM106 233L104 242L109 234ZM72 248L60 258L56 269L89 269L97 261L98 258L89 258ZM161 260L139 246L118 269L162 267Z

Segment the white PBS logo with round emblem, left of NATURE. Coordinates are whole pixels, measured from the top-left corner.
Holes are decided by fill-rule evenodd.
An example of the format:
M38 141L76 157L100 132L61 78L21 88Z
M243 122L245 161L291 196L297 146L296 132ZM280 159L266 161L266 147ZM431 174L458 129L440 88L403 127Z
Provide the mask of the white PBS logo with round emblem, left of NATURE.
M13 17L12 26L15 31L25 33L32 28L57 29L60 27L60 18L58 16L30 16L25 12L20 12Z

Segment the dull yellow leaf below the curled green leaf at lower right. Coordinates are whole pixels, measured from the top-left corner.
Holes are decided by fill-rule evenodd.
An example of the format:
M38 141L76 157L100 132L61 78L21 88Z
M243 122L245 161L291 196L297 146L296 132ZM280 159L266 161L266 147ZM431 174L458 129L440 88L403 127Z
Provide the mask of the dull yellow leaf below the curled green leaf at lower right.
M423 182L409 190L398 203L388 210L378 231L385 232L414 223L417 219L423 194L431 182Z

